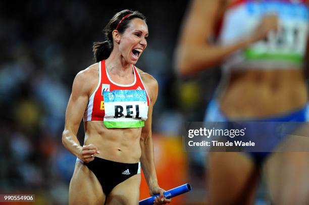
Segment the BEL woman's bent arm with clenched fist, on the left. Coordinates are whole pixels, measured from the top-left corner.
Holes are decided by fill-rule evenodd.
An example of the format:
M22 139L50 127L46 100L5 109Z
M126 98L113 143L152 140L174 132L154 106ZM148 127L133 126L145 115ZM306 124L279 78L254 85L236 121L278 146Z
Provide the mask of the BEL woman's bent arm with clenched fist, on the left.
M88 104L92 83L89 70L79 72L73 82L72 93L66 111L65 129L62 134L62 143L76 157L84 162L93 160L91 155L97 153L94 145L81 146L77 139L77 131Z

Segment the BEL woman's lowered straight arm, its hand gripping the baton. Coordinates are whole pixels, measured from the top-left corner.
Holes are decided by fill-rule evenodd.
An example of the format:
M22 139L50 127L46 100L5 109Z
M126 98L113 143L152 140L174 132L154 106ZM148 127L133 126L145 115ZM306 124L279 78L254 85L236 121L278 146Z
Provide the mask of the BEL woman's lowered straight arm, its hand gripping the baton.
M164 198L164 189L160 188L157 179L157 173L155 168L155 158L153 152L152 134L151 134L151 122L152 122L152 109L155 105L158 97L158 82L155 78L149 74L141 74L142 80L145 85L145 89L150 98L150 105L148 107L148 118L145 121L145 126L142 128L140 136L141 147L141 167L149 188L149 194L160 194L160 198L156 198L154 204L166 204L170 203L170 199ZM162 201L163 200L163 201Z

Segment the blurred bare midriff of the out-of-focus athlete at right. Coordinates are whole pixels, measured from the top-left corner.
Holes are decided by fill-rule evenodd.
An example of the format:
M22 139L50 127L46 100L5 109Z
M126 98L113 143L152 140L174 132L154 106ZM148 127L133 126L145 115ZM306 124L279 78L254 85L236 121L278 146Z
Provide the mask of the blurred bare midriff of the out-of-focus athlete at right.
M306 101L301 69L233 69L220 108L230 119L256 119L293 112Z

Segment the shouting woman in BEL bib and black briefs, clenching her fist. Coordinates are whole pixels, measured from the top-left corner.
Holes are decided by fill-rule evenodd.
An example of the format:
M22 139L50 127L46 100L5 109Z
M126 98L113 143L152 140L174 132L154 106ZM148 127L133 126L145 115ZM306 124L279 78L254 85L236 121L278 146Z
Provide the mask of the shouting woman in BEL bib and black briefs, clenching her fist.
M169 203L159 187L151 139L158 83L134 65L147 46L145 17L123 10L96 42L96 64L79 72L69 99L63 144L77 157L69 203L137 204L140 165L155 204ZM85 139L76 137L81 119Z

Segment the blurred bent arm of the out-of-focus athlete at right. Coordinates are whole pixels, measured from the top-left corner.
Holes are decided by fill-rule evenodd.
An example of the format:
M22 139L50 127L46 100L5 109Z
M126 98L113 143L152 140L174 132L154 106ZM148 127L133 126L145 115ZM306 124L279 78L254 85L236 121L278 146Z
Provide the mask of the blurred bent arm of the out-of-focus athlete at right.
M187 11L175 53L176 68L182 75L195 73L219 64L239 48L264 38L269 30L277 28L277 17L264 18L255 32L229 45L211 44L223 1L195 0ZM240 22L241 23L241 22Z

